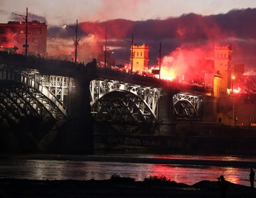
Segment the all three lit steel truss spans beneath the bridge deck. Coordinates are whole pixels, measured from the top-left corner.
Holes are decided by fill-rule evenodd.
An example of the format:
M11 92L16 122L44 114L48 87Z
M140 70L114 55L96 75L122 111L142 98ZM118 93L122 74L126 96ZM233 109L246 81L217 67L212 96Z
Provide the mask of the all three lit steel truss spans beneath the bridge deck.
M64 105L75 85L70 77L40 75L37 71L0 69L0 116L9 123L25 117L41 122L64 123L68 108ZM142 86L109 79L90 81L91 113L96 121L113 123L157 123L162 88ZM172 96L176 120L198 120L200 96L176 93Z

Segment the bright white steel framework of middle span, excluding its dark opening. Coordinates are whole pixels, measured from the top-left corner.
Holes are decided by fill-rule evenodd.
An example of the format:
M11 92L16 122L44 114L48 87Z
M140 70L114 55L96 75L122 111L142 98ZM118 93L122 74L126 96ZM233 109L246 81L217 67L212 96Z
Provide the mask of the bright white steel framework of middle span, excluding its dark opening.
M139 114L143 116L144 121L151 122L157 121L158 119L158 103L160 98L159 88L139 86L120 81L94 80L90 82L90 92L91 106L94 106L94 104L96 104L99 99L103 98L105 95L111 92L129 93L125 94L125 96L129 99L127 99L127 101L122 101L124 106L126 106L127 110L129 110L130 114L135 118L135 120L138 120L134 113L135 107L137 110L139 110ZM103 100L100 100L100 102L102 103ZM133 103L133 105L131 103ZM113 108L109 109L109 111L111 110L113 110ZM99 109L95 111L94 108L92 113L97 114L100 112Z

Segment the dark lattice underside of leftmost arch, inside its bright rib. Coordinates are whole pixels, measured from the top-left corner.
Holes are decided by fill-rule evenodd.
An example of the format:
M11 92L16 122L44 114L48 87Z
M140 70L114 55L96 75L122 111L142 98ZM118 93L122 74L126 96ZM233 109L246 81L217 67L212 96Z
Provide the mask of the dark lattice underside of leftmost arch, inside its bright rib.
M34 118L38 121L53 119L50 110L44 106L40 98L42 93L17 81L0 81L1 116L7 121L19 123L21 119ZM48 103L44 98L44 103Z

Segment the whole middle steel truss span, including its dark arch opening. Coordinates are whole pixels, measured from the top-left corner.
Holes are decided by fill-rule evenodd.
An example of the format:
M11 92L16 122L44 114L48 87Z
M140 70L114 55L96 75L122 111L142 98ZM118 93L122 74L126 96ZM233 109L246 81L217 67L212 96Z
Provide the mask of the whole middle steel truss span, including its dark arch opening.
M155 122L160 89L120 81L90 82L92 114L105 121Z

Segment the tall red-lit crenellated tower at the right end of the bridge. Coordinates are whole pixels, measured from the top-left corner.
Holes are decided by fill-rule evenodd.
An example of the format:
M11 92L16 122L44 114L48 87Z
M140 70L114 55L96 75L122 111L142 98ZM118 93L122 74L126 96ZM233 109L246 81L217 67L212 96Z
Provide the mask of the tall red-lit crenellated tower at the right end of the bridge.
M227 89L230 88L231 79L231 53L232 48L226 46L214 46L214 96L227 96Z

